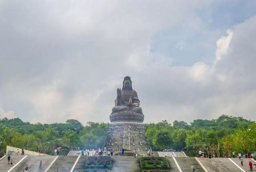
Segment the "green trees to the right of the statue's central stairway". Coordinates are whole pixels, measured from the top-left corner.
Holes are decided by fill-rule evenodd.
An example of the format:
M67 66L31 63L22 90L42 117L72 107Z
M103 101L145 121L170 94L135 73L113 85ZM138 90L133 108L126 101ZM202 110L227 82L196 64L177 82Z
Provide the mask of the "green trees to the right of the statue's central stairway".
M166 120L147 124L145 127L148 143L153 150L174 148L184 150L190 156L197 156L199 150L208 155L214 151L216 156L227 157L235 152L247 154L256 150L255 121L222 115L218 119L196 119L190 124L184 121Z

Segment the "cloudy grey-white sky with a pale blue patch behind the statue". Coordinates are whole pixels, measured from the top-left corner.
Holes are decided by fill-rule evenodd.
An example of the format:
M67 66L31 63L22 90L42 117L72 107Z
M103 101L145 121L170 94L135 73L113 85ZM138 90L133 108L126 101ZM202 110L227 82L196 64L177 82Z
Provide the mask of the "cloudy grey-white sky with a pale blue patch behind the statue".
M145 122L256 120L256 1L0 1L0 118L108 122L125 75Z

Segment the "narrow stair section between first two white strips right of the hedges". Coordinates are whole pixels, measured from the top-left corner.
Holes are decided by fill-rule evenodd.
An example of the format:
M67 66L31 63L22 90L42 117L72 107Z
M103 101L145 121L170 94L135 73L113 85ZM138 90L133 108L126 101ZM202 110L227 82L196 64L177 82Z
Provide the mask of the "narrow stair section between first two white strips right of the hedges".
M190 172L192 169L191 166L195 167L196 172L204 172L204 169L201 167L201 165L196 161L194 157L175 157L176 161L181 167L181 170L183 172Z

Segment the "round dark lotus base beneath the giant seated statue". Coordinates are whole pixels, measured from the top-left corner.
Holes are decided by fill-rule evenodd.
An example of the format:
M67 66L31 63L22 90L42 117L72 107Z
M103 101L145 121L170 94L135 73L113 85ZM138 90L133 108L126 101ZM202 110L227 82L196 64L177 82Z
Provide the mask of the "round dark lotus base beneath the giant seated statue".
M110 115L110 122L134 122L142 123L144 121L144 115L134 112L116 112Z

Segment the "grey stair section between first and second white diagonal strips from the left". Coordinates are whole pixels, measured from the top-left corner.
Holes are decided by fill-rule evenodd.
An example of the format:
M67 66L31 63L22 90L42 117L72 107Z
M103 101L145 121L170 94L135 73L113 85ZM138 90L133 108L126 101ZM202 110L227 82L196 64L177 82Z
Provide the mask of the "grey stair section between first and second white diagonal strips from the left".
M25 166L28 165L28 171L44 171L50 163L53 161L55 156L32 156L29 155L21 163L19 163L12 172L19 172L25 169ZM42 169L39 169L39 162L42 161Z

